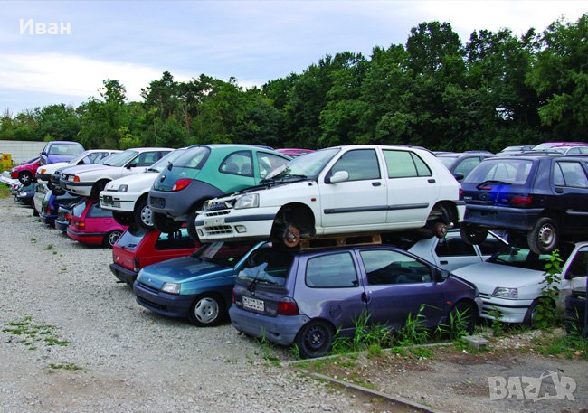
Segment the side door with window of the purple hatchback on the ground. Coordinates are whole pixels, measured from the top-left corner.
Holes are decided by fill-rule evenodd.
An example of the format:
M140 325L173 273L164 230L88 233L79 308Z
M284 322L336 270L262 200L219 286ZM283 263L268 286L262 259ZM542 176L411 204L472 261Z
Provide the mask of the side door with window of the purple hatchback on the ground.
M393 249L361 249L370 321L400 329L409 314L421 314L428 326L439 323L445 307L444 285L434 268Z

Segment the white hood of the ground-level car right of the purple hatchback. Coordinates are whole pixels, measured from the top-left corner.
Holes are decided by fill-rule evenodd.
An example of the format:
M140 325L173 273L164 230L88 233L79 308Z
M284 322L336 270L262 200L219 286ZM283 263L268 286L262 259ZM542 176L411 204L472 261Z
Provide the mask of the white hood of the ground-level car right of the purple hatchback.
M492 294L497 286L521 288L537 285L544 279L544 272L536 269L510 267L491 262L480 262L454 269L458 277L474 283L482 294Z

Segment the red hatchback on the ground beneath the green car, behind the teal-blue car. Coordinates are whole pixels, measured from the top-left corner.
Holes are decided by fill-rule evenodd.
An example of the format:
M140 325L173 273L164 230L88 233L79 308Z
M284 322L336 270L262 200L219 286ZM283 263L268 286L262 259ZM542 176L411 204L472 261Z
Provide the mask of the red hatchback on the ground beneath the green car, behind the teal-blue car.
M167 259L185 257L200 243L194 241L185 228L171 234L158 230L130 227L112 249L110 271L120 282L133 285L138 271Z

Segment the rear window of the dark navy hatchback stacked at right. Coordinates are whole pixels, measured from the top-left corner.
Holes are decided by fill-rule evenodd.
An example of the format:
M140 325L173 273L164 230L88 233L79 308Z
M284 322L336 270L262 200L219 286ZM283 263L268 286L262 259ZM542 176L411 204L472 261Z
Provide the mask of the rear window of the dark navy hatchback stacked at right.
M527 159L486 160L474 168L463 183L501 182L522 185L531 173L533 161Z

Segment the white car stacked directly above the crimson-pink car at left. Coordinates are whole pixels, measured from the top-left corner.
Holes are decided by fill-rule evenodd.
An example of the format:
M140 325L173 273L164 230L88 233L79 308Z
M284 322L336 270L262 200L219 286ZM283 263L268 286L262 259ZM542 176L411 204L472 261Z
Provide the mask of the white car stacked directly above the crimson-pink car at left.
M145 172L159 159L173 151L166 147L139 147L113 155L104 164L73 166L62 170L60 185L72 195L98 199L107 183Z

